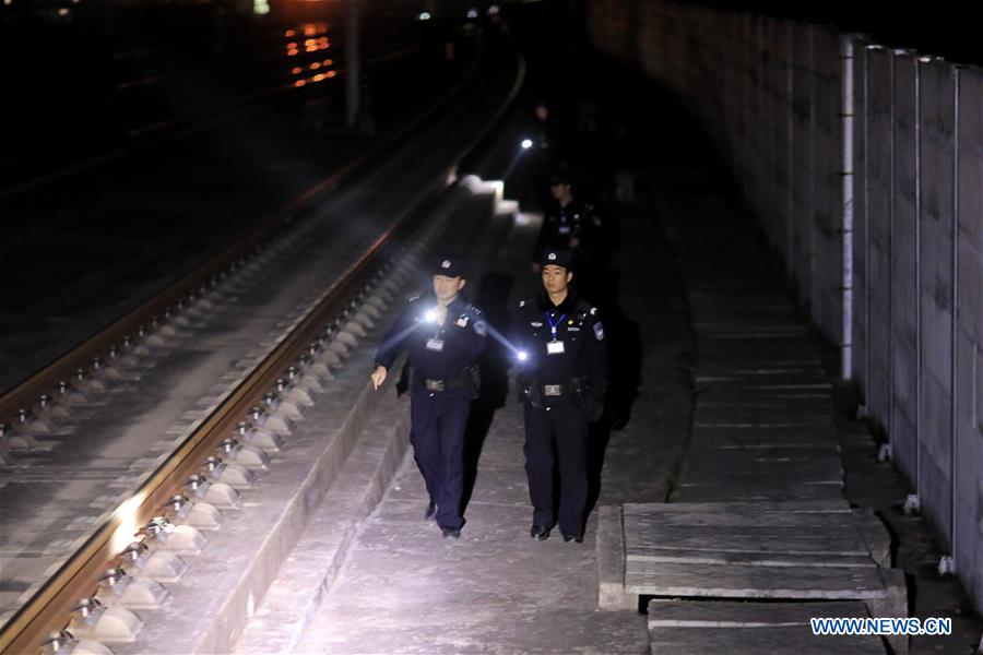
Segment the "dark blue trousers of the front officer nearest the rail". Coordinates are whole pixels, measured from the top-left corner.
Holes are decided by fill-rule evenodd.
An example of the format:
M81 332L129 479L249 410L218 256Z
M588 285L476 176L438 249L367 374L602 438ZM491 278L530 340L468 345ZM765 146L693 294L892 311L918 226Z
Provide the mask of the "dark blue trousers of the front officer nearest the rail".
M437 504L440 527L464 525L464 428L471 408L471 390L427 391L415 386L410 396L410 443L424 476L430 501Z

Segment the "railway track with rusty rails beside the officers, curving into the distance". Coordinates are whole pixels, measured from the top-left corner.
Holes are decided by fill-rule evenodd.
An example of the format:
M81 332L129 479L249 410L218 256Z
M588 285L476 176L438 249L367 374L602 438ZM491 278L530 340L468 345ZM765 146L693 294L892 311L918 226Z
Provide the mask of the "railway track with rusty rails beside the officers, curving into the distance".
M54 505L60 488L55 480L69 487L82 478L99 478L93 462L100 460L81 468L62 462L60 469L51 452L86 451L92 444L111 452L122 438L166 424L159 412L150 418L143 412L139 428L123 421L114 428L114 440L83 439L86 429L95 431L94 426L111 420L107 416L126 415L121 403L139 404L149 381L165 398L161 403L167 405L170 425L183 420L183 429L167 430L171 451L133 458L121 493L108 502L106 496L92 499L100 513L82 536L63 546L63 552L42 549L51 557L37 558L40 563L54 563L5 617L0 652L37 652L46 641L49 650L67 648L76 639L107 631L127 641L139 631L143 620L125 606L159 604L167 593L159 581L183 571L177 553L205 548L204 534L222 522L222 513L241 509L240 497L248 493L244 489L271 465L271 453L286 448L283 434L291 421L329 383L332 368L379 318L433 243L441 225L428 223L427 207L514 102L523 71L519 63L513 76L499 74L497 86L486 82L458 88L415 126L419 134L413 127L402 133L400 156L364 157L350 165L221 257L0 397L0 471L8 476L0 493L50 483L36 490L49 493L47 502ZM504 100L493 100L497 88L507 92ZM471 129L476 116L484 119L479 130ZM435 136L441 136L439 146L429 145ZM398 210L376 191L378 186L392 191ZM346 214L344 225L332 221L343 211L360 215ZM248 310L252 315L244 315L240 301L250 296L258 296ZM208 360L208 374L200 361L189 361L201 360L208 350L202 342L229 349L221 362ZM226 345L233 342L239 345ZM197 409L189 412L187 398L169 402L168 382L196 377L202 381L189 384L197 384L199 394L208 390L191 405ZM182 415L175 417L175 410ZM159 443L156 439L133 450L154 452ZM7 523L10 514L0 519ZM4 532L19 526L7 527ZM4 555L13 552L9 544L3 548ZM127 594L130 603L121 603ZM86 647L98 652L102 646Z

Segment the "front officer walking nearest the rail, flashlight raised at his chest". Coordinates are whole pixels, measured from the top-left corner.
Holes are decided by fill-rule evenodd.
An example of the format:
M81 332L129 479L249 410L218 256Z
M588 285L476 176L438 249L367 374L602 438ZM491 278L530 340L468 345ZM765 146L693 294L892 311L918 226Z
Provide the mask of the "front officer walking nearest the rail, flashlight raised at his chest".
M464 427L477 397L475 359L485 347L485 321L465 302L463 262L445 258L433 290L410 298L376 353L371 380L382 384L403 348L410 353L410 442L427 485L426 517L436 515L445 538L459 538L464 517Z

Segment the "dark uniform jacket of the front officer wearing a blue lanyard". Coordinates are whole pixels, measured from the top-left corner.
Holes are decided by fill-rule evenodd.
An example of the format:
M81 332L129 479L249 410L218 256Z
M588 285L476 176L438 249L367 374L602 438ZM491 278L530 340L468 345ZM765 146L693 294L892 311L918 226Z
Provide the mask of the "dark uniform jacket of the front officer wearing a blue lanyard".
M558 307L541 293L522 300L516 312L511 341L525 352L520 380L540 385L578 383L584 400L594 408L603 406L607 386L607 350L604 326L597 308L572 290Z

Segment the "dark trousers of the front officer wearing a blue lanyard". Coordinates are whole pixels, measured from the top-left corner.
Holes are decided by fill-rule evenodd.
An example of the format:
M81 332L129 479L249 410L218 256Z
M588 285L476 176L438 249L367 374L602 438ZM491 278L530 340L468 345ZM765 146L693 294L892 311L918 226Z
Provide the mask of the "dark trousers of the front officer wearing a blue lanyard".
M552 527L559 519L568 535L583 534L587 509L588 419L584 410L567 398L547 410L528 403L525 413L525 473L533 523ZM559 511L553 498L554 471L559 472Z

